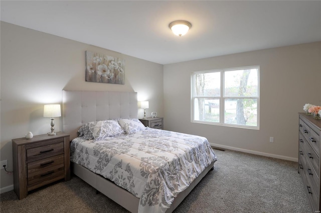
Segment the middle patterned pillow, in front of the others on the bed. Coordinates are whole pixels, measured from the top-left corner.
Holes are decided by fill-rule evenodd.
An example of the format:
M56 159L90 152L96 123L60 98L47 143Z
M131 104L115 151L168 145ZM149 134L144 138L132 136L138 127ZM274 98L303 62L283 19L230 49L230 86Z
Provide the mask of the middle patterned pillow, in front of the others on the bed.
M121 134L124 134L124 131L118 124L117 120L98 121L92 131L95 141Z

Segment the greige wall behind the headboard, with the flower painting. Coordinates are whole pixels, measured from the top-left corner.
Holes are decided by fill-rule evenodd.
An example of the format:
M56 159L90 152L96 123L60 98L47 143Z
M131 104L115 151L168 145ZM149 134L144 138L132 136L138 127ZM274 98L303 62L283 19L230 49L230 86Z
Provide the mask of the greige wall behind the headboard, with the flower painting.
M106 38L107 39L107 38ZM125 59L125 84L85 81L85 50ZM12 166L12 138L50 131L46 103L61 103L62 89L136 91L149 100L146 110L163 116L163 65L74 40L1 22L1 160ZM138 109L138 117L143 110ZM61 131L61 118L55 119ZM13 187L13 175L1 172L1 189ZM13 189L13 188L11 188Z

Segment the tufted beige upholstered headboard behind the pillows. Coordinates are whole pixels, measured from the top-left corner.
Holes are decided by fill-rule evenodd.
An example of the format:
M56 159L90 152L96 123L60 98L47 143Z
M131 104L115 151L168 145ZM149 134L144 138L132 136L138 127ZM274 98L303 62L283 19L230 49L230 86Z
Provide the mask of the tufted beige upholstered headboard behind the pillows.
M62 111L62 129L72 140L87 122L137 118L137 92L63 90Z

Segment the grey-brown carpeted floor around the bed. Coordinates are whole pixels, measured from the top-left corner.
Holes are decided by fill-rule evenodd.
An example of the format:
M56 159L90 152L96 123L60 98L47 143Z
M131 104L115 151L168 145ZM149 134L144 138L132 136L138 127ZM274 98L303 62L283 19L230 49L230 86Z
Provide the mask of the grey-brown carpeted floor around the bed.
M310 212L297 163L231 150L218 161L175 212ZM2 193L1 212L128 212L76 176L19 200Z

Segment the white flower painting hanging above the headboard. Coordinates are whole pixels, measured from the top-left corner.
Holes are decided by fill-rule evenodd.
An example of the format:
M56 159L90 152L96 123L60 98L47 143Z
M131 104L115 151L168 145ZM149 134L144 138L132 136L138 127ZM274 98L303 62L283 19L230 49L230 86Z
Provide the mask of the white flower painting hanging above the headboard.
M86 81L125 84L125 59L86 51Z

